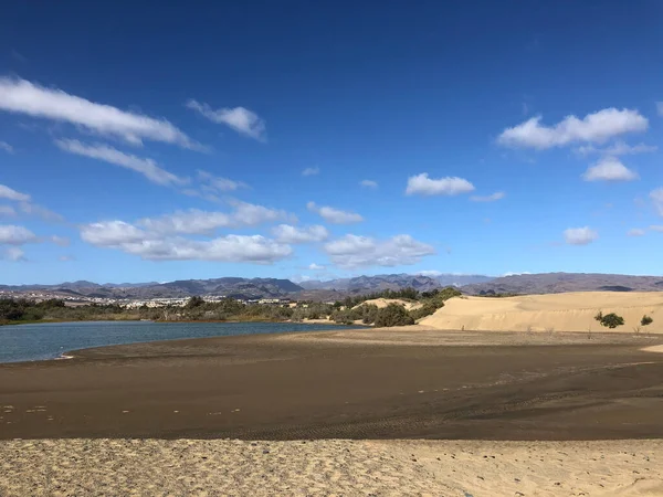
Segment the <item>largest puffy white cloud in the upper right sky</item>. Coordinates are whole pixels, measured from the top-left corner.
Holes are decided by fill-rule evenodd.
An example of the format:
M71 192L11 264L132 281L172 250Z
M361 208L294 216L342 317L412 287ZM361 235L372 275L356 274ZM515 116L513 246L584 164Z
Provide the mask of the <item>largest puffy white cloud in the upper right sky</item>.
M541 117L533 117L513 128L505 129L497 142L507 147L546 149L572 142L602 144L627 133L644 131L649 127L646 117L638 110L604 108L579 119L567 116L555 126L541 125Z

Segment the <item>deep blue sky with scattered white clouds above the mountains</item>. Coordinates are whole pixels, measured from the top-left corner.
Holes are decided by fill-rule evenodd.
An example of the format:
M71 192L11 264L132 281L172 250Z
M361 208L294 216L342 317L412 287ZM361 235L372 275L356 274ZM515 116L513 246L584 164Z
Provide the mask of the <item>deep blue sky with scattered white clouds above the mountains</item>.
M10 2L0 283L661 274L662 14Z

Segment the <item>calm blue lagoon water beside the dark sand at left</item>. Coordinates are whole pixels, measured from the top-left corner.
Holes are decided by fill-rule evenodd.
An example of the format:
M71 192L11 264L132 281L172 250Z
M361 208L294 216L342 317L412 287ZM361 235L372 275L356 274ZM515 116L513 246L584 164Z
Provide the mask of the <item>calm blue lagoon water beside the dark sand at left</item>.
M0 362L55 359L71 350L178 338L347 328L294 322L90 321L0 326Z

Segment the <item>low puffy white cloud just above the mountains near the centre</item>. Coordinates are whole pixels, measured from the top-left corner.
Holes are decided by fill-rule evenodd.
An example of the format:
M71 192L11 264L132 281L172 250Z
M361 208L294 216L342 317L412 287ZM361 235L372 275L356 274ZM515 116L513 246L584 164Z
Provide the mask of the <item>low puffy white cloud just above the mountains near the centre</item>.
M324 251L334 264L344 268L417 264L423 256L435 253L432 245L406 234L382 241L348 234L325 244Z

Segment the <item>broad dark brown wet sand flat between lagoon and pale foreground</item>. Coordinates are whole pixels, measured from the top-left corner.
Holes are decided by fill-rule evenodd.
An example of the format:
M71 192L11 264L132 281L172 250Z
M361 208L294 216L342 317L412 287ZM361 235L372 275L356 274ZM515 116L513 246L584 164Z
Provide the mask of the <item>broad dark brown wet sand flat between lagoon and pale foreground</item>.
M0 438L663 437L663 342L361 330L0 366ZM404 343L404 345L401 345Z

